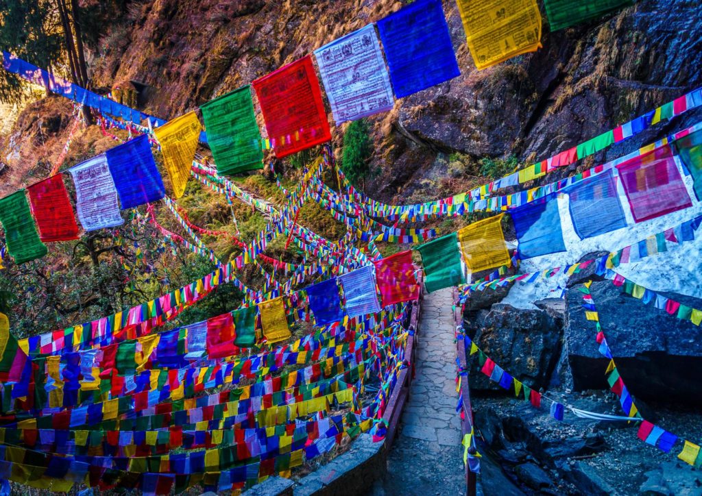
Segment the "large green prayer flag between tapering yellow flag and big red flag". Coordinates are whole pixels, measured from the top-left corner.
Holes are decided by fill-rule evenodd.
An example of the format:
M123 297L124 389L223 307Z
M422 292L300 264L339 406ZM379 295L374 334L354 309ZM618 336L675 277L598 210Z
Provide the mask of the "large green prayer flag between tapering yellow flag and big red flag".
M218 174L263 168L261 133L253 113L250 86L210 100L200 109Z

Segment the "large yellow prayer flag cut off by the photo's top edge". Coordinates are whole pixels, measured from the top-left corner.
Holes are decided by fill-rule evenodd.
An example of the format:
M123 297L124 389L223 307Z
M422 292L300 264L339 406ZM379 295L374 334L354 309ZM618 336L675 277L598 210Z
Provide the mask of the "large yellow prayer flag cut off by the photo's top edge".
M457 0L475 67L485 69L541 48L534 0Z

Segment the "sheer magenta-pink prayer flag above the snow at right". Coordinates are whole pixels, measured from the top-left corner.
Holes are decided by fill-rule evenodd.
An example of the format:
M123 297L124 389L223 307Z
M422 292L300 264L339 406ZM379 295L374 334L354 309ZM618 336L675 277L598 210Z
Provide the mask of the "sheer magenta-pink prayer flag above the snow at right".
M625 161L616 168L636 222L692 206L670 146Z

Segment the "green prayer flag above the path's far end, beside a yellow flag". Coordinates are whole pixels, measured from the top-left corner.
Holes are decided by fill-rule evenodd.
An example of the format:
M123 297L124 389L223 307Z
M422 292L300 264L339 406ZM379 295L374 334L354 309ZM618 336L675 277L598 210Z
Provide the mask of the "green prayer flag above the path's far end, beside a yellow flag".
M455 232L424 243L417 250L422 255L427 293L465 282Z

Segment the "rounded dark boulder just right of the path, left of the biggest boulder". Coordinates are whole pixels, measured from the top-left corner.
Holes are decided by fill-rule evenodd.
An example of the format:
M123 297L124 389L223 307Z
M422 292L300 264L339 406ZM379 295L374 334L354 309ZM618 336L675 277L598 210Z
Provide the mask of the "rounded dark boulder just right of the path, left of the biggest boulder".
M543 310L516 309L498 303L480 310L470 321L468 335L499 366L530 387L545 387L561 351L562 328ZM472 389L501 389L479 372L472 361Z

